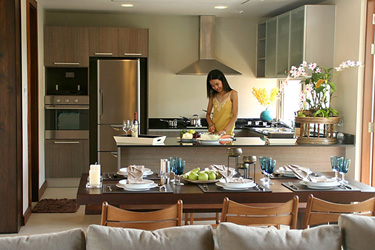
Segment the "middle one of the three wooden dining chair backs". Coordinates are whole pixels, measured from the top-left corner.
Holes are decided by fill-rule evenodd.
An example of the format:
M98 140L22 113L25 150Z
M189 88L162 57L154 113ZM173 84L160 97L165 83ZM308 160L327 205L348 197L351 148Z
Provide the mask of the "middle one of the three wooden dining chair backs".
M272 206L250 206L237 203L224 198L221 222L232 222L245 226L290 226L297 227L299 197L295 195L292 200Z

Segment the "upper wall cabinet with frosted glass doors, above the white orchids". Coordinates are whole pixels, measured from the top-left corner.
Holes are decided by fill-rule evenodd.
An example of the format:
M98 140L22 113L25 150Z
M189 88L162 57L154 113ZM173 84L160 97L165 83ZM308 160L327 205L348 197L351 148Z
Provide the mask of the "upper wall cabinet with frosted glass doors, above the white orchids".
M286 77L303 61L332 67L334 31L333 5L305 5L259 24L257 77Z

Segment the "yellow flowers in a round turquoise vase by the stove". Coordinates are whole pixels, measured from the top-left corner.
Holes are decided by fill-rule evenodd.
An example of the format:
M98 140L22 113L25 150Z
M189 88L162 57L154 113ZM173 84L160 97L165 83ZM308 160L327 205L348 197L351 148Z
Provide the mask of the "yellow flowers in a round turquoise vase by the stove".
M270 92L265 88L253 88L251 92L255 98L258 100L260 105L262 105L265 110L260 113L260 119L264 122L271 122L272 116L268 107L276 102L279 98L280 92L277 88L272 88Z

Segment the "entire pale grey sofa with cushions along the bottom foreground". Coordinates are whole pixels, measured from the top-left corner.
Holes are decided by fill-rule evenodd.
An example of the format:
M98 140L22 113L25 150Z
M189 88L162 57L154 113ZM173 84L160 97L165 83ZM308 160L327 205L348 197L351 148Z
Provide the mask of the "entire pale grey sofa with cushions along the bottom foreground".
M2 250L237 250L375 249L375 217L341 215L338 225L305 230L246 227L224 222L154 231L91 225L63 232L0 238Z

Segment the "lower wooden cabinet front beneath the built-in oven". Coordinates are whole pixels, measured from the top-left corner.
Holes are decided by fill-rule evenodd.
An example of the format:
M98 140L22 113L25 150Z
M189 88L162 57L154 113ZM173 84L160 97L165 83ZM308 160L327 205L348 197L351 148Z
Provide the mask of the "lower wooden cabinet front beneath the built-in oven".
M89 169L89 140L45 140L46 178L77 178Z

